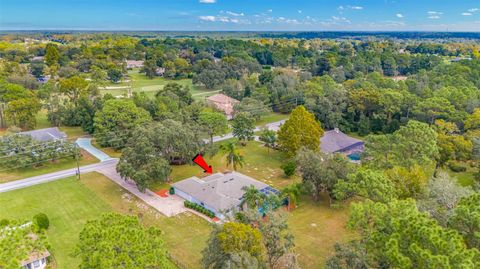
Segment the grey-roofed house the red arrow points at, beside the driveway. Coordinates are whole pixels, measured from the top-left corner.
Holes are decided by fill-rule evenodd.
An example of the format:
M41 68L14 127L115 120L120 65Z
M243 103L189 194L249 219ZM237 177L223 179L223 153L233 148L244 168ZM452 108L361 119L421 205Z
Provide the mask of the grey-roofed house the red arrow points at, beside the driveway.
M240 210L245 193L243 187L250 185L267 195L279 193L269 185L238 172L216 173L202 179L191 177L172 184L176 195L205 207L220 219L225 219L225 214L232 210Z

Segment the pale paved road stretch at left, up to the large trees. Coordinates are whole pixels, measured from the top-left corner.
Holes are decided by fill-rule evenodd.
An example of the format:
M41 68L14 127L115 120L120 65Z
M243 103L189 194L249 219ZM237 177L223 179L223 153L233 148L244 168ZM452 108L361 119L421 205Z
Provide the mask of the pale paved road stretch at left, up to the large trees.
M118 162L118 159L110 159L100 163L80 166L80 173L98 171L106 167L115 167L117 165L117 162ZM42 184L42 183L47 183L47 182L59 180L62 178L71 177L71 176L75 176L76 174L77 174L77 168L72 168L72 169L62 170L62 171L44 174L40 176L15 180L12 182L0 184L0 193L13 191L16 189L22 189L22 188Z

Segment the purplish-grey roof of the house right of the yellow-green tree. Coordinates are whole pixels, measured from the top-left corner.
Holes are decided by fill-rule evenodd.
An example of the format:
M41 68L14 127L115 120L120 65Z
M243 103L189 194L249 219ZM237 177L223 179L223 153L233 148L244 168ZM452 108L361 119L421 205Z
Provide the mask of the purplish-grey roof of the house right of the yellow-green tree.
M341 152L363 144L362 140L350 137L338 129L326 131L320 138L320 149L327 153Z

